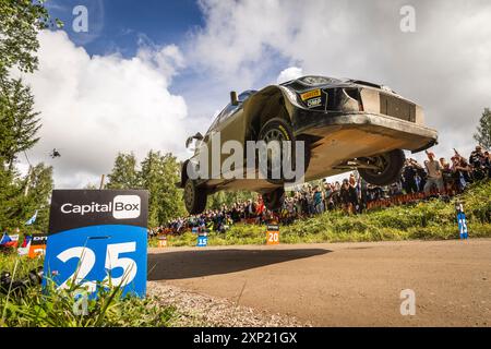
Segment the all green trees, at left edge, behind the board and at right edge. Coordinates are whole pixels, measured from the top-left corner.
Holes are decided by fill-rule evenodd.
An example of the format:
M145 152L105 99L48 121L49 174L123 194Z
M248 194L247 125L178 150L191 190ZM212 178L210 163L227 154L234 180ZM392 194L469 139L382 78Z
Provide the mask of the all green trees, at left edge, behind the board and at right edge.
M38 210L29 229L46 231L49 198L53 189L52 168L29 164L27 173L17 168L19 158L39 141L41 118L34 108L31 88L12 71L33 73L38 65L37 33L59 25L49 19L41 3L0 0L0 229L24 227ZM491 111L480 118L475 139L491 147ZM180 163L170 153L149 151L141 163L133 154L119 154L109 174L108 189L146 189L149 191L151 227L185 215L182 190L176 186ZM252 198L250 192L219 192L208 198L208 208Z

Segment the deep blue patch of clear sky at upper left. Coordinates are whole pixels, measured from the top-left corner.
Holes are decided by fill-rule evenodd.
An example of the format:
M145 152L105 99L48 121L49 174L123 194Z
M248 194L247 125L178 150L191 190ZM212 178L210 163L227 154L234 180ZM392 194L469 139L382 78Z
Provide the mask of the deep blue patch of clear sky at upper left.
M189 31L203 25L195 0L48 0L47 5L50 14L64 23L63 29L70 38L91 55L118 50L124 57L132 57L139 36L164 46L183 40ZM97 28L88 41L85 34L72 29L72 10L76 5L87 8L89 27Z

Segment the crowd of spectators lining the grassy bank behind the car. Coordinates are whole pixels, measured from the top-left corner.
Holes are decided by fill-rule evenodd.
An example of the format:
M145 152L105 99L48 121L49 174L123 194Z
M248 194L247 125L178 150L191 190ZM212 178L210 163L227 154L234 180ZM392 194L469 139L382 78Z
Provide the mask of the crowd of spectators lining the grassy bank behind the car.
M326 210L343 209L358 214L364 209L384 206L386 203L403 203L428 196L453 196L462 193L469 183L491 178L491 156L477 146L468 160L455 151L448 163L436 159L427 152L427 159L420 165L416 159L406 159L400 179L388 186L367 183L357 172L350 173L343 182L327 182L315 185L306 183L286 195L279 213L265 208L261 195L256 200L223 205L201 215L180 217L166 226L151 231L151 234L181 233L189 229L226 231L239 221L265 224L272 219L289 224L296 219L322 214ZM394 198L398 198L394 201Z

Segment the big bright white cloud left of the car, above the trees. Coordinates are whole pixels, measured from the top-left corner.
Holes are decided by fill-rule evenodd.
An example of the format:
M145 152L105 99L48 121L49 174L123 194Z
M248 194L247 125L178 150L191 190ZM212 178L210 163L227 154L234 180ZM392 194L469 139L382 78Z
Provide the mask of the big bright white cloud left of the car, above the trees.
M176 46L142 47L136 57L89 57L64 32L39 34L39 70L25 75L41 112L32 163L55 165L58 188L81 188L108 173L118 152L142 159L151 148L185 152L187 105L169 92L183 59ZM61 158L48 156L60 148Z

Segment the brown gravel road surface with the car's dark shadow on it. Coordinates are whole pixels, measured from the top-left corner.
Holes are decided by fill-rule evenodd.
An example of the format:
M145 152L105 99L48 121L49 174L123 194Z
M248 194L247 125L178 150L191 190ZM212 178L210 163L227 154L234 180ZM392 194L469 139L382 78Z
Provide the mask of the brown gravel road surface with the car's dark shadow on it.
M149 249L148 270L316 326L491 326L490 239Z

